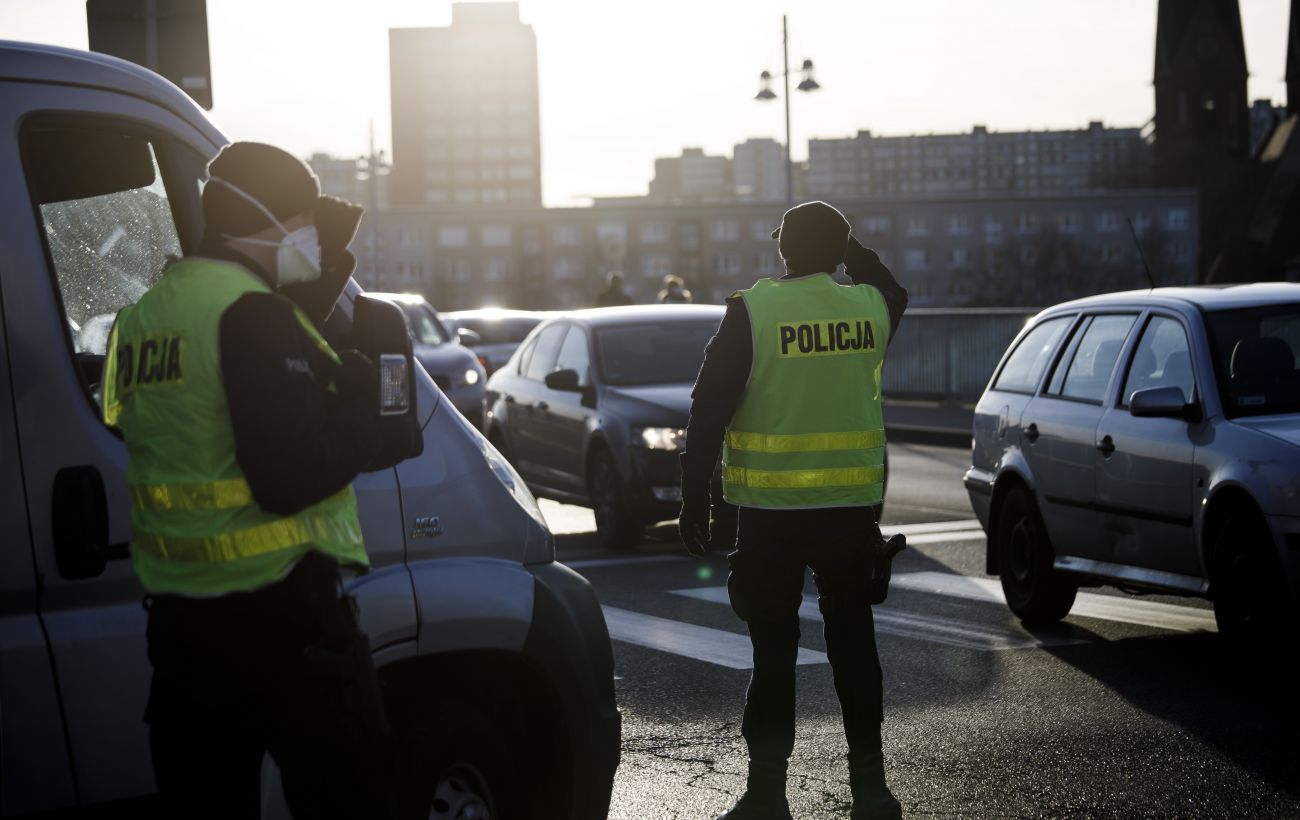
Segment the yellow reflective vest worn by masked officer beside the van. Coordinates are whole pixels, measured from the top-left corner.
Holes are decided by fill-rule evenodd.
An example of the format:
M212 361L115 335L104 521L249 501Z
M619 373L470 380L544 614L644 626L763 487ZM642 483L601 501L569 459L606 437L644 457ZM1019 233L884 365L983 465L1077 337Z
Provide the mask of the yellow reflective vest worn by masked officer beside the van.
M264 511L239 463L221 381L220 321L270 288L244 268L182 260L117 314L104 420L126 439L131 557L151 593L211 596L282 578L308 550L367 565L348 486L292 516ZM311 321L303 330L338 360Z

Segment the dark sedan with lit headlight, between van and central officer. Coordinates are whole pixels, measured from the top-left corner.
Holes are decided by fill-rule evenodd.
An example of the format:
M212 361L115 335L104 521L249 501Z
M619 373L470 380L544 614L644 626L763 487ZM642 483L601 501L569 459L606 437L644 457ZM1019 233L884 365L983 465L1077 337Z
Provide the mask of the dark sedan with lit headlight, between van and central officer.
M534 494L592 507L611 548L681 503L690 389L716 305L595 308L538 325L488 381L489 441Z

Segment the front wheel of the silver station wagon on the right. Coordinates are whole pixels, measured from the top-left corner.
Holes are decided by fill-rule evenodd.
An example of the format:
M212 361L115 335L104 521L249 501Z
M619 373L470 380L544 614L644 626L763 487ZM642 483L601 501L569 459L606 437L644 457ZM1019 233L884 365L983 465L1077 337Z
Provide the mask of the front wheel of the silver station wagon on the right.
M1279 637L1290 595L1264 516L1234 503L1216 516L1212 532L1210 595L1219 633L1240 648Z

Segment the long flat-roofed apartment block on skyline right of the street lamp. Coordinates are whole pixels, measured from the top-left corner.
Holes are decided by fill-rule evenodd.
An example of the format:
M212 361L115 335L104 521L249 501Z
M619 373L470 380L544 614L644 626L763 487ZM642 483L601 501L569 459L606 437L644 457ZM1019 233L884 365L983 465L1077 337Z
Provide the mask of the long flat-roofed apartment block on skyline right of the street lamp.
M989 131L809 140L812 198L1034 194L1141 187L1150 147L1139 129Z

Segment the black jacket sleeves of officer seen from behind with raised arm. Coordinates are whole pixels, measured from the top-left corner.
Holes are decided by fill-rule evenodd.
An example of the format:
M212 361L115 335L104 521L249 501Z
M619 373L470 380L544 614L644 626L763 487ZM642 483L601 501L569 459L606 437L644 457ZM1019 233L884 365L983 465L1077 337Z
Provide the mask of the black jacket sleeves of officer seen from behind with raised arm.
M902 313L907 308L907 291L894 279L875 251L857 248L845 260L845 273L854 285L871 285L884 296L889 311L889 338L893 339ZM824 274L807 274L824 275ZM800 278L788 273L783 279ZM741 394L749 382L754 363L754 338L749 311L740 296L727 299L727 313L718 335L705 348L705 364L692 391L690 424L686 428L686 454L681 459L681 489L689 499L708 495L714 467L723 446L723 434L731 424Z

